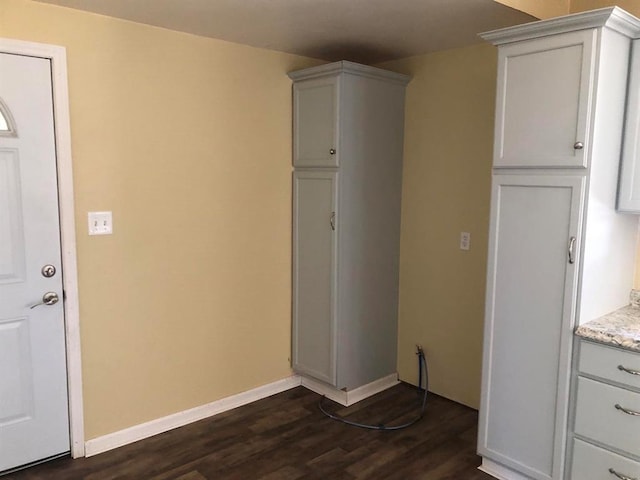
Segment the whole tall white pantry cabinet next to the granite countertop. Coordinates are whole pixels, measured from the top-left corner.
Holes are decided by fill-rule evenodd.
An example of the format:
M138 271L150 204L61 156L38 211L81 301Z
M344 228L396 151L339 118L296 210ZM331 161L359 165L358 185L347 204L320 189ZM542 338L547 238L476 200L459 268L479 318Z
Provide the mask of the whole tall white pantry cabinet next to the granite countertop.
M616 213L638 20L595 10L483 34L498 50L478 451L565 475L573 329L628 304L637 217Z

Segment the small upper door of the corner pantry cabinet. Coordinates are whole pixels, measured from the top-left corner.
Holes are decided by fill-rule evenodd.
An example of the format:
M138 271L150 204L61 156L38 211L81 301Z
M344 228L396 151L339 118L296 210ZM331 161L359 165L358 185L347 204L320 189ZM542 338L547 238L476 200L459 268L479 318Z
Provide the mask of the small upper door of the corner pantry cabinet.
M337 167L338 77L305 80L293 85L293 165Z

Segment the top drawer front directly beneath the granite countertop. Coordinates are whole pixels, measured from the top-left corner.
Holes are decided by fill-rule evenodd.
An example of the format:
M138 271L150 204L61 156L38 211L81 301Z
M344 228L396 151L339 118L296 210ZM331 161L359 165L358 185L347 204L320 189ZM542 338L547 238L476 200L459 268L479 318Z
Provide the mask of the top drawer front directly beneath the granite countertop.
M634 374L640 373L640 353L581 342L578 368L580 373L640 389L640 375Z

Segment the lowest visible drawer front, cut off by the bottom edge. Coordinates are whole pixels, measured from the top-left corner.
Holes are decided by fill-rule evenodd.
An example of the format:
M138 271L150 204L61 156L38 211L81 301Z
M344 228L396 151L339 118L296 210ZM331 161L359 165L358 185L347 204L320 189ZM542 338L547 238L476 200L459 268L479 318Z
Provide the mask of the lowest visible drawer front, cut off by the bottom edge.
M618 477L610 469L622 478L640 480L640 463L580 440L573 441L571 480L615 480Z

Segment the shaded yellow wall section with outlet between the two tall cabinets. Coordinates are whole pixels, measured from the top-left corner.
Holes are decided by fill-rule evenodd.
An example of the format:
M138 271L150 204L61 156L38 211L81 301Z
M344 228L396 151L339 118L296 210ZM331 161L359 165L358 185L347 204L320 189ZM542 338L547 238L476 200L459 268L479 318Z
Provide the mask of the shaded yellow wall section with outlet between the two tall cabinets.
M477 407L497 54L478 45L386 63L412 76L407 92L398 369L418 376L425 347L430 389ZM471 249L459 249L460 232Z

